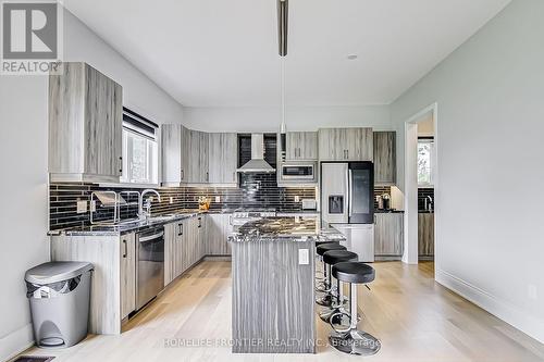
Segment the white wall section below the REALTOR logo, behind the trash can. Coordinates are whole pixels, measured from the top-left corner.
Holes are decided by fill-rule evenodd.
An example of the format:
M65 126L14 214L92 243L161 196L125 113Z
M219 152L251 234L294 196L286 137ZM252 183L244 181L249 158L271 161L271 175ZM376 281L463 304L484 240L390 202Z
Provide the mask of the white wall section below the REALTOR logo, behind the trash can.
M0 361L32 340L24 273L49 260L47 79L0 76Z

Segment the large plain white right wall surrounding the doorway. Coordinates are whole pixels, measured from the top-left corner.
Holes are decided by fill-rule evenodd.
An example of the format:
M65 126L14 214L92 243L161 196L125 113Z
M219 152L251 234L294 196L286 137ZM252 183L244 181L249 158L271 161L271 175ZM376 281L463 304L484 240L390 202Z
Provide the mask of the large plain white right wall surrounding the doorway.
M515 0L392 104L398 132L438 104L437 280L541 341L543 43L544 1Z

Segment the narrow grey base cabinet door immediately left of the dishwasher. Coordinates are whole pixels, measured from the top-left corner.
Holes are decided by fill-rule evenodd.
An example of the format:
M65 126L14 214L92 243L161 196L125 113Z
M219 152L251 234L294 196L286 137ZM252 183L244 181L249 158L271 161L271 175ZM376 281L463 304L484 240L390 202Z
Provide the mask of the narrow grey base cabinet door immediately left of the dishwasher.
M136 238L121 236L121 319L136 310Z

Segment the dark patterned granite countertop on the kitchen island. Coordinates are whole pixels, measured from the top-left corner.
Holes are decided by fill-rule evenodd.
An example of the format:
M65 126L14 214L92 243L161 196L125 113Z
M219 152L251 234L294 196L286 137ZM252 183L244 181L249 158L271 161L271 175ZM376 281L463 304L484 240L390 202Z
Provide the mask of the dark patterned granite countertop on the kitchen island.
M228 236L228 241L342 241L345 237L333 229L322 230L321 224L316 219L300 217L264 217L249 222L239 227L236 233Z

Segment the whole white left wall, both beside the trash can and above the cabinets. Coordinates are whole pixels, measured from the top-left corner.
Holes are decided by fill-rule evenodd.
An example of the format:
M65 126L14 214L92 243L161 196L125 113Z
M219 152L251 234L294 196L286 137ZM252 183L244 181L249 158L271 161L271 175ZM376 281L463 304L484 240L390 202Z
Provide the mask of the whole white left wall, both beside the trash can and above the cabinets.
M177 123L182 107L83 23L65 12L65 60L86 61L123 86L124 103L158 123ZM0 76L0 361L32 344L24 272L49 260L47 77Z

